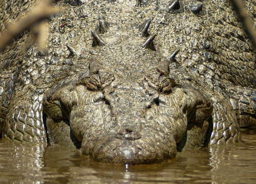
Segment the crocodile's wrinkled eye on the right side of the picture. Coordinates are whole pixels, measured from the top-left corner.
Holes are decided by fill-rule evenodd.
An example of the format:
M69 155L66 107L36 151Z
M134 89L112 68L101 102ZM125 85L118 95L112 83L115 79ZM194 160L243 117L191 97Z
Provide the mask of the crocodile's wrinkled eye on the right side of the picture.
M148 85L159 93L170 94L172 87L176 86L177 83L171 79L167 73L156 68L151 74L145 77Z

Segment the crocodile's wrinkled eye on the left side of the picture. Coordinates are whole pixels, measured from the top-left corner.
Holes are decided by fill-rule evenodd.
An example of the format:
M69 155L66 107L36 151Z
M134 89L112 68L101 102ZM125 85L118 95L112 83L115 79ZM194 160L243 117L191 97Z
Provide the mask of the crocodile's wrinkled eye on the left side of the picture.
M94 71L89 77L80 82L87 87L88 90L100 91L109 86L115 80L114 75L105 71Z

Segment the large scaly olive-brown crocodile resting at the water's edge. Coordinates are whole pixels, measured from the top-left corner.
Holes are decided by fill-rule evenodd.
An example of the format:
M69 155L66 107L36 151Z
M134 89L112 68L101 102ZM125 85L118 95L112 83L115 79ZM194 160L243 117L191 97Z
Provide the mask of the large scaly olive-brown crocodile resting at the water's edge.
M0 31L36 1L0 3ZM245 1L255 22L256 4ZM147 164L241 142L256 125L255 51L227 0L53 1L48 52L1 51L2 139ZM10 11L9 7L15 7Z

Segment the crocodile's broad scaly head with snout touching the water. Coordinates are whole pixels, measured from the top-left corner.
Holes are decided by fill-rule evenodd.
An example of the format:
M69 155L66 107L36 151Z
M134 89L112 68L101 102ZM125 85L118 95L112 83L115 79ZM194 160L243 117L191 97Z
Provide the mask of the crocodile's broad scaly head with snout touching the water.
M170 68L170 60L141 45L95 47L89 70L64 78L46 94L48 129L66 120L82 153L98 162L161 162L177 149L200 147L210 98Z

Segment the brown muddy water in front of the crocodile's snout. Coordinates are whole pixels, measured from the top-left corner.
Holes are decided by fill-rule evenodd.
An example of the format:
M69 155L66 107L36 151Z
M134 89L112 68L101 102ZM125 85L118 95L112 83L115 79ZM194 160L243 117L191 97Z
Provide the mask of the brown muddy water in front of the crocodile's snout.
M77 150L0 143L0 183L256 183L256 135L178 154L162 164L93 162Z

